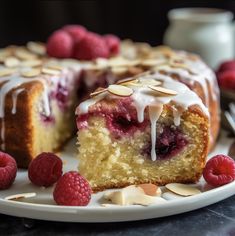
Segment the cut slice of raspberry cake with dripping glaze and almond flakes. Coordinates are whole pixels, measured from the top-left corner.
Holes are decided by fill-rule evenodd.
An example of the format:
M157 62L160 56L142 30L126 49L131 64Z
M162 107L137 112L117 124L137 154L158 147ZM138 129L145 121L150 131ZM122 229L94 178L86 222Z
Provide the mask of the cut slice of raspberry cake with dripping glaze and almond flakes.
M76 113L79 172L94 191L199 179L209 147L209 112L195 92L155 72L91 96Z

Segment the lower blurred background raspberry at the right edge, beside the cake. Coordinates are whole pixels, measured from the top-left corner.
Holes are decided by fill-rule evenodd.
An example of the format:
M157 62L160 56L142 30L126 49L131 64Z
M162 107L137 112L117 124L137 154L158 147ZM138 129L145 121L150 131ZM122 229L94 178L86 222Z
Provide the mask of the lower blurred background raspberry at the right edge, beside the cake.
M235 70L224 71L217 76L221 88L235 90Z

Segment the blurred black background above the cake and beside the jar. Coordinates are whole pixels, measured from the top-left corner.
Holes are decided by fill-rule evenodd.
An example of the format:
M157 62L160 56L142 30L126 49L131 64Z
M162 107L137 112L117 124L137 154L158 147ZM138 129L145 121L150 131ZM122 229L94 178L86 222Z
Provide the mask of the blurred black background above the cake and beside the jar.
M168 26L167 12L180 7L214 7L235 13L235 1L1 1L0 47L46 41L65 24L81 24L100 34L162 43Z

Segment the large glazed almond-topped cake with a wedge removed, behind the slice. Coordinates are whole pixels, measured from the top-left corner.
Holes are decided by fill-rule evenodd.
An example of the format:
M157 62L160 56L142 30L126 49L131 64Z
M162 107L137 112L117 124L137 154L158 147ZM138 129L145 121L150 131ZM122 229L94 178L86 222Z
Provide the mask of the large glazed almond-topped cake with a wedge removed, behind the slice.
M123 41L115 57L78 61L51 58L42 43L29 42L1 49L0 62L0 150L18 167L63 147L76 130L76 106L95 89L150 70L194 90L209 108L210 147L218 135L216 80L193 54Z

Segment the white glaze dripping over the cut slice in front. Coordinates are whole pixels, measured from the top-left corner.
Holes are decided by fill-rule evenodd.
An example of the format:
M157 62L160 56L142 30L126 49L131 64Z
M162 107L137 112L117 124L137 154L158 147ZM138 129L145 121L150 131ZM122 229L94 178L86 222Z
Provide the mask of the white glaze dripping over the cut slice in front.
M162 82L162 87L171 89L177 92L177 95L165 95L156 93L149 89L148 85L151 85L152 80L157 80ZM140 77L138 82L136 83L125 83L124 86L127 86L133 89L134 93L130 96L133 100L133 105L137 111L137 118L138 122L143 122L144 120L144 112L146 108L149 108L149 120L151 123L151 158L152 160L156 160L156 123L162 113L163 105L164 104L171 104L174 106L175 112L173 112L174 120L177 125L180 125L180 115L184 110L187 110L188 107L192 105L198 105L201 110L204 112L205 115L209 117L208 109L202 103L201 99L198 95L190 90L186 85L183 83L177 82L171 79L167 75L162 75L158 72L150 75L146 75ZM102 99L112 99L117 98L116 96L110 94L107 91L97 95L94 98L91 98L83 103L81 103L76 111L77 115L86 114L89 112L89 107L97 103ZM177 105L177 106L175 106ZM180 108L179 112L177 112L178 107Z

